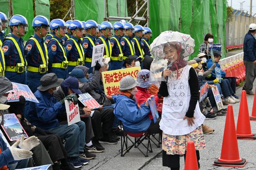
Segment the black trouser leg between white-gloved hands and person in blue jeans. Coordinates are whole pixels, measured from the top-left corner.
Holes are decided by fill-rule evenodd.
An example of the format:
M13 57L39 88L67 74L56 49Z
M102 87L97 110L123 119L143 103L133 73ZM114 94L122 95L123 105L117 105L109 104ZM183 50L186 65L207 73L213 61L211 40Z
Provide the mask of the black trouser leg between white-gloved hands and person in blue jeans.
M46 136L37 136L37 138L44 144L53 163L57 160L67 158L67 152L59 135L52 134Z

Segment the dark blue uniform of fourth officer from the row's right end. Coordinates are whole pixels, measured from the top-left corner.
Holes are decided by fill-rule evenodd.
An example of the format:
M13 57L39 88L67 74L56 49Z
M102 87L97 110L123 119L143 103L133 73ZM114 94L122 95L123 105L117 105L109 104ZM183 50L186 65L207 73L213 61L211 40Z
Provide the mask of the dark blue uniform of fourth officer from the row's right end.
M114 35L113 38L110 39L110 44L112 47L112 54L109 70L121 69L123 66L123 52L120 44L120 38L117 35Z

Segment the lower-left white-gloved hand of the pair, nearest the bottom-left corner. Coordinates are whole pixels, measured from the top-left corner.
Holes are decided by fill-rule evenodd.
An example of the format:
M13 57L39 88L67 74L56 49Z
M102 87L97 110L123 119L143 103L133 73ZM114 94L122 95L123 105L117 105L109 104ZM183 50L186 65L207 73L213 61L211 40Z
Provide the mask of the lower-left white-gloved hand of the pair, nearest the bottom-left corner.
M31 151L17 148L19 144L20 144L20 141L17 141L10 147L10 151L12 153L13 159L22 160L22 159L32 158L33 153Z

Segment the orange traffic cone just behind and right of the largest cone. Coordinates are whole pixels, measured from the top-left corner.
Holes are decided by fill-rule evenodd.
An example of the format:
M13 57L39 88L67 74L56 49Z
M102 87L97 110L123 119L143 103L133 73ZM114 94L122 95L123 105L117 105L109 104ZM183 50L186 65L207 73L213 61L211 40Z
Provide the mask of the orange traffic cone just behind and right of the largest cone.
M246 91L242 90L239 114L236 126L237 139L255 140L255 134L251 133L251 124L246 99Z

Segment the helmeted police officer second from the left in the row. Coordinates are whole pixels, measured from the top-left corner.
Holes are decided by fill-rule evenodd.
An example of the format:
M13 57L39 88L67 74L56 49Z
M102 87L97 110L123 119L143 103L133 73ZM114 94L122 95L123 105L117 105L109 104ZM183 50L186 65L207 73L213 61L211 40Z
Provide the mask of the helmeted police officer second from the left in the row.
M13 15L10 19L12 34L4 39L2 51L5 56L5 77L15 83L26 84L25 50L22 36L28 31L27 19L22 15Z

